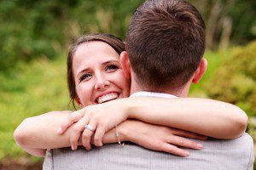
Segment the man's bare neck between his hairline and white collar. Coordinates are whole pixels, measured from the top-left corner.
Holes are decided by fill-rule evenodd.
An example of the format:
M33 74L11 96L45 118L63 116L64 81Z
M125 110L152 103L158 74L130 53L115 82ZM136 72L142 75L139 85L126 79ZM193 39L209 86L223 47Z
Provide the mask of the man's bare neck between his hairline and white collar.
M134 80L131 79L131 94L134 94L136 92L141 92L141 91L147 91L147 92L158 92L158 93L163 93L163 94L172 94L177 97L188 97L189 94L189 87L190 83L187 83L183 88L176 88L176 89L155 89L155 90L150 90L148 88L143 88L139 86L139 84Z

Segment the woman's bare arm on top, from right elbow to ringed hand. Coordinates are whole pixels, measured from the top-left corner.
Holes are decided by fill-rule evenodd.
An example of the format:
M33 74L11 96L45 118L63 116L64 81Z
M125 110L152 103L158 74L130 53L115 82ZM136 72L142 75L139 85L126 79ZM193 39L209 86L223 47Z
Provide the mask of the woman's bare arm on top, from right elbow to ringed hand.
M94 141L97 146L102 145L105 132L129 118L176 127L216 139L236 139L247 127L247 115L244 111L236 105L212 99L115 99L101 105L89 105L71 115L70 121L61 125L61 133L76 122L70 137L71 145L77 145L84 131L83 145L87 149L90 149L88 141L93 133L84 130L85 122L96 129Z

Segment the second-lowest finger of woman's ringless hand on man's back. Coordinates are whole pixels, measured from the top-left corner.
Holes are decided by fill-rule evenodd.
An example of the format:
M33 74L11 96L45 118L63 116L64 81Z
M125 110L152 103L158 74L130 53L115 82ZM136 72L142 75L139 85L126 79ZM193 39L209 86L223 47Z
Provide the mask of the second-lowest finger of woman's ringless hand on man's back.
M182 146L184 148L190 148L194 150L201 150L203 148L202 144L179 136L172 136L167 140L167 142L169 144L174 144L177 146Z

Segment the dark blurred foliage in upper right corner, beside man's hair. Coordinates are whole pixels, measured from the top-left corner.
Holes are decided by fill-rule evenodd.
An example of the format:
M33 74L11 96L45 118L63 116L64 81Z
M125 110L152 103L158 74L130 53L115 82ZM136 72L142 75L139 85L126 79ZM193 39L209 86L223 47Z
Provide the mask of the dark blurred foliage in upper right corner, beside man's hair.
M207 25L207 48L247 44L256 37L256 1L189 0L199 9Z

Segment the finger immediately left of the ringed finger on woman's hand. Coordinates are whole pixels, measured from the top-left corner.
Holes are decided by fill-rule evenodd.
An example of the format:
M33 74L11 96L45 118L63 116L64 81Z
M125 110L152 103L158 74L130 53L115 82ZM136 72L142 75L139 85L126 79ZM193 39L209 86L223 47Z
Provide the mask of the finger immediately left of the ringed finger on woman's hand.
M72 127L72 131L69 137L72 150L76 150L78 147L79 137L84 131L84 126L88 123L88 118L86 116L82 117L79 122Z

